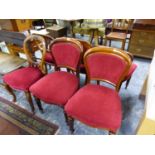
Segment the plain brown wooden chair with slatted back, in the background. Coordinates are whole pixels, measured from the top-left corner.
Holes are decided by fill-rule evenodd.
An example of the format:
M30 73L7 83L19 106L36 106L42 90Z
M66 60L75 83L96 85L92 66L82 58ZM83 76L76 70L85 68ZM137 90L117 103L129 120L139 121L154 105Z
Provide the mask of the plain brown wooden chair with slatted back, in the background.
M111 32L105 36L104 45L105 46L107 45L108 40L109 40L109 46L111 46L111 40L121 41L122 42L121 49L124 50L131 22L132 20L130 19L113 19L111 25Z

